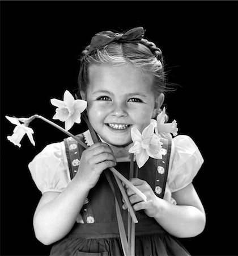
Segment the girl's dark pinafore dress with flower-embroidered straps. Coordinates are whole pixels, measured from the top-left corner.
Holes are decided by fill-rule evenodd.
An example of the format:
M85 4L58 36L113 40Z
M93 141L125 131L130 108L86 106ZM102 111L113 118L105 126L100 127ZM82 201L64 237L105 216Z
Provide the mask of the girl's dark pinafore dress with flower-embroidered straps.
M83 135L78 136L84 141ZM164 196L171 151L171 141L162 139L162 142L163 159L149 158L138 171L138 178L146 180L154 189L155 195L161 198ZM73 179L78 170L83 148L80 144L77 145L73 138L65 139L65 146L70 177ZM119 162L116 170L128 179L129 166L129 162ZM107 172L113 180L111 172ZM127 232L128 211L122 209L120 193L117 193L117 199ZM69 234L54 243L50 255L124 255L117 224L115 196L104 173L88 193L80 214L84 223L75 222ZM137 211L136 216L139 222L135 224L135 255L190 255L175 237L168 234L154 218L148 217L143 210Z

